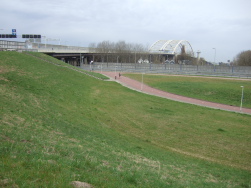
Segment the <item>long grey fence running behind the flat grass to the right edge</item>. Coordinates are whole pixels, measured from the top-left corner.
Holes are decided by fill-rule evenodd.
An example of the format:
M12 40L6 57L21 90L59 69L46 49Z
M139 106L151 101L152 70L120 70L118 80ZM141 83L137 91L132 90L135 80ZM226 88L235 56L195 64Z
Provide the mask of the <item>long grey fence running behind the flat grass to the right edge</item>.
M100 63L82 64L82 69L92 71L135 72L148 74L191 74L234 76L251 78L251 66L182 65L182 64L134 64Z

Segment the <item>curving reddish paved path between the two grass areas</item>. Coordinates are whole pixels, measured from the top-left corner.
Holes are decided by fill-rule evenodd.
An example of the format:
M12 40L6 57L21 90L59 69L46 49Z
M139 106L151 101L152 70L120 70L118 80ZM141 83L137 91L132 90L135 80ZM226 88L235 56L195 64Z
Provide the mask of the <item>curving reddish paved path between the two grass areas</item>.
M242 110L240 110L240 107L237 107L237 106L218 104L218 103L203 101L203 100L199 100L199 99L184 97L184 96L180 96L180 95L175 95L172 93L168 93L165 91L161 91L161 90L152 88L148 85L142 84L139 81L127 78L123 75L119 77L118 73L116 74L116 79L115 79L115 72L102 72L102 74L109 77L110 80L112 80L112 81L116 81L116 82L122 84L123 86L126 86L128 88L131 88L133 90L136 90L136 91L139 91L142 93L155 95L155 96L167 98L167 99L174 100L174 101L179 101L179 102L190 103L190 104L205 106L205 107L214 108L214 109L221 109L221 110L233 111L233 112L245 113L245 114L251 115L251 109L249 109L249 108L242 108Z

